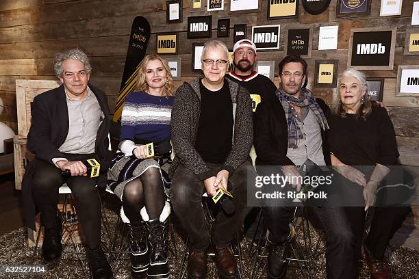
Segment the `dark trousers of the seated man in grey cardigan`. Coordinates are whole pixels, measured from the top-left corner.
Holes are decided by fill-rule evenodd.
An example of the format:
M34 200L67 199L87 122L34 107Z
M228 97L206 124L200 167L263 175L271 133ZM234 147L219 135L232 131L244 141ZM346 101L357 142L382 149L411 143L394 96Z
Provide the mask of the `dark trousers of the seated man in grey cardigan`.
M212 170L220 170L220 165L211 163L207 165ZM216 222L212 227L212 241L216 247L221 248L229 245L242 225L246 213L247 170L254 172L249 161L242 163L233 174L229 175L227 190L233 194L236 212L227 216L223 211L220 211L216 216ZM203 181L200 181L194 172L179 165L173 176L170 199L177 217L188 233L192 249L201 251L206 250L210 244L210 232L205 223L202 207L203 193L205 193Z

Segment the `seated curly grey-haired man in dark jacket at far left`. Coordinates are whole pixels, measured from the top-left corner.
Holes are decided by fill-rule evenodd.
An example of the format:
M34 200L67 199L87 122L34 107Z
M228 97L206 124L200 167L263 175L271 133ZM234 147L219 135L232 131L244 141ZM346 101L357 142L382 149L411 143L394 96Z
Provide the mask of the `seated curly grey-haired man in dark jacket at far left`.
M98 182L86 168L86 160L94 158L106 169L110 127L107 98L88 83L92 68L83 51L61 53L54 69L62 85L36 96L31 107L27 148L36 159L23 178L27 226L34 228L33 198L45 226L42 256L47 261L60 256L58 188L66 183L77 199L77 216L86 237L93 278L110 278L112 271L100 248L101 207L96 188L103 187L106 178L101 174ZM63 176L64 170L69 170L71 176Z

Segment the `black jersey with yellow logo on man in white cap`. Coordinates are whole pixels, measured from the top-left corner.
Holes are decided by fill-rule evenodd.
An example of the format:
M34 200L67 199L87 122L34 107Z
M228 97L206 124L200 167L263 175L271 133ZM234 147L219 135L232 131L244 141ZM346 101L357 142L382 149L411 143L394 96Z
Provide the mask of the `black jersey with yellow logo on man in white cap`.
M239 83L249 91L252 98L253 117L255 116L256 107L259 103L269 101L270 98L276 98L275 92L277 91L277 86L275 83L268 77L259 75L257 72L253 72L248 76L240 76L235 72L230 72L226 77Z

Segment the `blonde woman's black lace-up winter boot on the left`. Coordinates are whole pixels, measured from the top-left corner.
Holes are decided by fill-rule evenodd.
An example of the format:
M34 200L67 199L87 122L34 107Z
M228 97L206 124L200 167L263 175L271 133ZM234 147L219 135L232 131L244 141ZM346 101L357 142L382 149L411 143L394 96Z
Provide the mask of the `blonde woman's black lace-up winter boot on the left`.
M146 271L149 268L149 245L147 228L144 222L127 224L129 228L129 250L131 251L131 269L134 272Z

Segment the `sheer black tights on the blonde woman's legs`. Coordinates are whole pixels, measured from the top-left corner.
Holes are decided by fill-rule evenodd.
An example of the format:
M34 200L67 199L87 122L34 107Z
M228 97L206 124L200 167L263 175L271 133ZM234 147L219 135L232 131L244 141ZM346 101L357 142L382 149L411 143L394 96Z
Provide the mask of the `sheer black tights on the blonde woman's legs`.
M148 168L140 177L129 181L123 191L124 213L133 224L140 222L140 210L146 207L150 220L158 219L164 207L162 176L158 168Z

